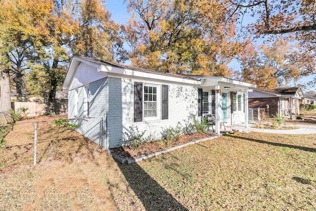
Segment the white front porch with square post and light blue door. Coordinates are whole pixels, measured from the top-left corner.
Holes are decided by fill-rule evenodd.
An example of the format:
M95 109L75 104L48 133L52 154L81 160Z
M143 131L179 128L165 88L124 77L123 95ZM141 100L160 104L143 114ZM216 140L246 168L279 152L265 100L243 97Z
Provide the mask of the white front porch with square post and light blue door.
M207 115L213 117L215 134L220 134L221 127L237 124L248 127L248 92L256 85L221 77L190 77L201 80L198 114L201 120Z

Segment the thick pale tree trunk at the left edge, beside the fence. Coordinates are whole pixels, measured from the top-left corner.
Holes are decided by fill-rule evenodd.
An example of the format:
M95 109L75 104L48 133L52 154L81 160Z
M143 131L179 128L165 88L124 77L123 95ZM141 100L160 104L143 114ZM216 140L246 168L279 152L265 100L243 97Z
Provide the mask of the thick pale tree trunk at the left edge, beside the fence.
M0 76L0 111L9 111L11 109L11 98L10 98L10 81L7 73L1 71Z

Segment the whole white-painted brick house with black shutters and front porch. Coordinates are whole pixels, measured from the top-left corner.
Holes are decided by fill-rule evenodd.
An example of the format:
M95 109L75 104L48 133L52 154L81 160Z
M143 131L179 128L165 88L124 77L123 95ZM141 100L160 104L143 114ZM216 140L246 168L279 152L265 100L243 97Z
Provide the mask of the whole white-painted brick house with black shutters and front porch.
M253 84L207 76L168 74L111 62L74 57L64 89L68 117L104 149L123 144L123 132L137 126L161 137L165 127L195 115L215 114L220 122L248 127L248 90Z

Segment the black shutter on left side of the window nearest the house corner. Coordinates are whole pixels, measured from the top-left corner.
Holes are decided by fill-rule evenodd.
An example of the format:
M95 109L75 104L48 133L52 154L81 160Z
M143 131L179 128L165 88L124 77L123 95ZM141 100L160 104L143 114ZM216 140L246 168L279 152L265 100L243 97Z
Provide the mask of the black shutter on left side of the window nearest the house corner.
M143 121L143 83L134 82L134 122Z

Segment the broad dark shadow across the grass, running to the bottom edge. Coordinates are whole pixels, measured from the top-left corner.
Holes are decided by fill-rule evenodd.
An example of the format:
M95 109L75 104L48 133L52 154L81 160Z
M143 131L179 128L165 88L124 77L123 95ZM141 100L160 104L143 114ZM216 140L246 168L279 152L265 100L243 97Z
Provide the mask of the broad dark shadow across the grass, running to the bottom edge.
M188 211L137 163L118 167L146 211Z

